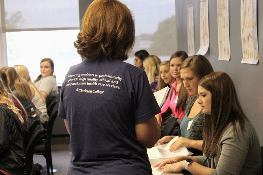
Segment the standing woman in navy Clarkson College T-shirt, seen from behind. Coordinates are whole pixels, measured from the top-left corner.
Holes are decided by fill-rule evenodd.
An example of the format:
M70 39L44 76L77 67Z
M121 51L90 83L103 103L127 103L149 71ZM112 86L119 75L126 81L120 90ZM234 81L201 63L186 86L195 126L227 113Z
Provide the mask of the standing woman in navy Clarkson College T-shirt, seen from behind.
M61 86L58 116L70 134L67 174L152 174L145 147L160 138L154 117L160 108L146 73L123 62L134 38L123 3L89 5L75 42L86 59L70 68Z

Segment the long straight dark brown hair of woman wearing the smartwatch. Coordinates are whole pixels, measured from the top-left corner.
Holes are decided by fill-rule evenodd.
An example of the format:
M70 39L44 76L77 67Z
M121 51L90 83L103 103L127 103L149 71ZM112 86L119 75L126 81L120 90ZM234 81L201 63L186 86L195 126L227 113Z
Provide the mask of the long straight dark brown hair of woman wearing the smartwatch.
M248 119L240 106L234 83L225 72L214 72L203 77L198 86L212 94L211 115L205 114L203 138L205 155L214 156L225 130L232 125L236 134L236 122L239 122L243 132L244 122Z

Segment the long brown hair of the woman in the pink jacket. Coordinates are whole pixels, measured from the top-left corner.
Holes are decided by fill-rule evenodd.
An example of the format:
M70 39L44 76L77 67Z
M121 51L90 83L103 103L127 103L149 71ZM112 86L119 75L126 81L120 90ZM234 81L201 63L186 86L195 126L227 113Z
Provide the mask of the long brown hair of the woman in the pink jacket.
M172 55L171 55L171 58L170 58L170 62L173 58L176 58L176 57L180 57L182 59L182 62L184 62L184 60L188 57L187 53L183 50L178 50L176 52L174 52ZM170 63L169 62L169 63ZM176 89L176 88L175 88ZM184 87L184 83L182 83L181 85L181 88L179 90L179 94L178 94L178 99L177 99L177 104L176 104L176 107L175 107L175 111L177 111L177 109L179 108L182 108L184 110L184 107L185 107L185 103L186 103L186 100L187 100L187 90L186 88Z

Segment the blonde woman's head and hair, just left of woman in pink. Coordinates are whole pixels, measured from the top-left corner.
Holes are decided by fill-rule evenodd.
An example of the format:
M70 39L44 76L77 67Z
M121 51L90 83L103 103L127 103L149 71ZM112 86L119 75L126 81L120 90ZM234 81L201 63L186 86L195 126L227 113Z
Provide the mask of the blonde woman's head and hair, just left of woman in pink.
M167 86L171 88L174 81L175 79L170 73L169 61L161 62L159 66L158 89L161 90Z

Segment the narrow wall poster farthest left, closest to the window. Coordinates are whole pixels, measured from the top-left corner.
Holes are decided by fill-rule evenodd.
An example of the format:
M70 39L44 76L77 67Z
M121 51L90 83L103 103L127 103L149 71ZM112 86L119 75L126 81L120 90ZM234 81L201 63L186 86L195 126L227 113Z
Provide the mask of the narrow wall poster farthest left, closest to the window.
M187 43L188 56L195 55L195 36L193 20L193 4L187 6Z

